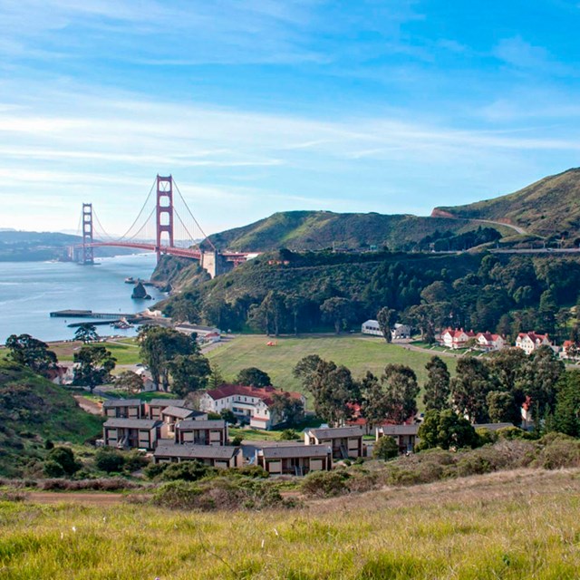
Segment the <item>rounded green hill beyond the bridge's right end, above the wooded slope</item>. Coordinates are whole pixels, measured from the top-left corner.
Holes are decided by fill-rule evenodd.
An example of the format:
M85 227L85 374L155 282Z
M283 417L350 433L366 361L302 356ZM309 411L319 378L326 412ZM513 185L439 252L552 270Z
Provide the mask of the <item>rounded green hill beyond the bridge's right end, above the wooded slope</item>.
M328 247L361 249L375 246L411 250L424 237L437 232L461 234L481 226L453 218L420 218L377 213L338 214L331 211L285 211L248 226L215 234L209 239L218 249L266 252L320 250ZM508 235L507 228L496 227ZM513 233L513 232L512 232Z

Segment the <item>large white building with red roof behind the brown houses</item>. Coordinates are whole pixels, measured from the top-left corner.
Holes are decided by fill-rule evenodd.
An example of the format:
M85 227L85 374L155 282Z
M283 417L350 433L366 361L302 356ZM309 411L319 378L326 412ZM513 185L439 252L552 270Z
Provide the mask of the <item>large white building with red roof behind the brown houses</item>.
M242 384L223 384L218 389L206 391L199 398L199 409L204 412L220 413L224 409L232 411L238 420L249 423L257 429L271 429L284 420L272 409L275 395L285 395L287 391L274 387L248 387ZM306 400L299 392L287 392L293 399Z

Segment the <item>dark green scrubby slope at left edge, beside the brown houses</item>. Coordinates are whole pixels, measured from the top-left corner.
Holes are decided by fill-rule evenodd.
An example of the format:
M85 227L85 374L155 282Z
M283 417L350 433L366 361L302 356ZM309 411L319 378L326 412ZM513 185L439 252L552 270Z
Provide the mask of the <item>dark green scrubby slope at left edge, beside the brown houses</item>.
M44 440L82 443L101 426L63 387L0 359L0 475L33 475Z

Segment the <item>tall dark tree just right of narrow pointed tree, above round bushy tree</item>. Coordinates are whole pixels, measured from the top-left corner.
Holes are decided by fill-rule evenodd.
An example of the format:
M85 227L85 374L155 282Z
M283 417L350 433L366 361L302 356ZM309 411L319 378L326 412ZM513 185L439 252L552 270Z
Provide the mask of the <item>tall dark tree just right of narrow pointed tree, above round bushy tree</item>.
M463 356L457 363L457 376L451 379L451 401L459 414L472 423L488 420L486 397L493 390L486 362Z

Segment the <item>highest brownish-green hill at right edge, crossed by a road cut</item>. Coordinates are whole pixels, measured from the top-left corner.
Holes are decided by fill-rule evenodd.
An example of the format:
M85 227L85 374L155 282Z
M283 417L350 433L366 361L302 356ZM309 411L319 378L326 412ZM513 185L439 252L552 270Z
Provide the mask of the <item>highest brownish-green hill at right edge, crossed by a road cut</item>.
M435 208L437 218L488 219L521 227L540 237L580 237L580 168L540 179L499 198L466 206ZM579 240L580 241L580 240Z

